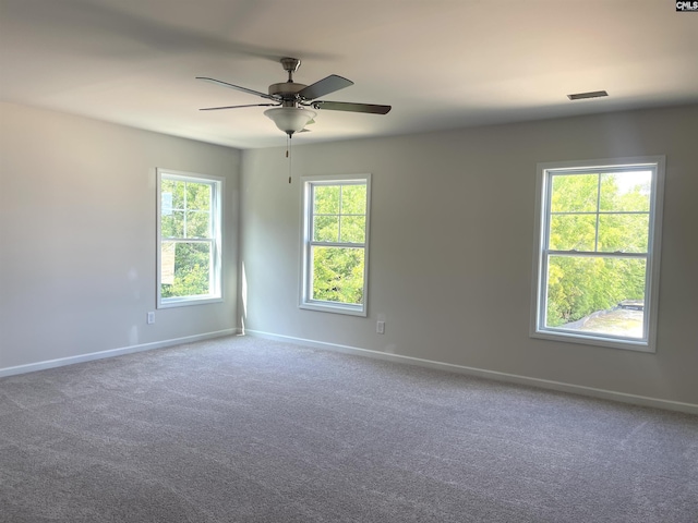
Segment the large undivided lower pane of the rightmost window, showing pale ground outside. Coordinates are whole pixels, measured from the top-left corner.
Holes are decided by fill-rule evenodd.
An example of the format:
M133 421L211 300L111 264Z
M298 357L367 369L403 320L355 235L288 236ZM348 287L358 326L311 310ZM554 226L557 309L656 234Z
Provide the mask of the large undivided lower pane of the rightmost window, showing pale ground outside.
M545 327L643 337L646 260L549 256Z

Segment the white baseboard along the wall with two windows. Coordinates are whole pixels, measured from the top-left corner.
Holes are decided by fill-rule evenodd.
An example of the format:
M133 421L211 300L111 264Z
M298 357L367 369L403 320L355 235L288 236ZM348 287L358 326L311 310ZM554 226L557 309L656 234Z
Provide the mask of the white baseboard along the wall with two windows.
M361 356L374 357L377 360L386 360L390 362L399 362L408 365L418 365L422 367L436 368L440 370L448 370L450 373L464 374L467 376L477 376L480 378L495 379L509 384L527 385L559 392L570 392L574 394L588 396L603 400L619 401L630 403L633 405L651 406L654 409L663 409L667 411L685 412L688 414L698 414L698 405L694 403L683 403L679 401L662 400L658 398L648 398L645 396L628 394L614 390L597 389L593 387L585 387L581 385L564 384L562 381L552 381L549 379L531 378L527 376L518 376L516 374L498 373L496 370L485 370L482 368L466 367L462 365L454 365L450 363L435 362L432 360L422 360L412 356L402 356L399 354L389 354L386 352L372 351L370 349L359 349L357 346L340 345L337 343L327 343L324 341L308 340L303 338L294 338L290 336L274 335L272 332L263 332L257 330L245 329L245 335L265 338L275 341L285 341L303 346L314 349L325 349L346 354L357 354Z

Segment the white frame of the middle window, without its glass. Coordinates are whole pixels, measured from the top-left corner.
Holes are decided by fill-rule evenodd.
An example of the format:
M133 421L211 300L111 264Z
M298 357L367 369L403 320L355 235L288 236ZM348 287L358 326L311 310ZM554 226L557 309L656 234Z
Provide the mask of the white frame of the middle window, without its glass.
M312 188L314 185L349 185L349 184L364 184L366 186L366 212L365 212L365 236L363 243L348 243L348 242L313 242L312 241L312 227L313 227L313 202L312 202ZM368 295L369 295L369 231L371 230L370 216L371 216L371 174L329 174L329 175L315 175L315 177L302 177L302 223L301 223L301 288L300 288L300 303L299 307L309 311L321 311L327 313L339 313L352 316L368 315ZM313 282L313 262L312 262L312 248L313 246L329 246L329 247L349 247L349 248L363 248L363 303L348 304L338 302L328 302L312 299L312 282Z

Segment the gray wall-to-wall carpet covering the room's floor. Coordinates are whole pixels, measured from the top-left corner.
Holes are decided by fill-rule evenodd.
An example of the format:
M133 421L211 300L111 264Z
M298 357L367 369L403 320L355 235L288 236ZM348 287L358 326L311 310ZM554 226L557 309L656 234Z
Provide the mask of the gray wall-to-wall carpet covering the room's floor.
M245 337L0 379L0 521L698 521L698 417Z

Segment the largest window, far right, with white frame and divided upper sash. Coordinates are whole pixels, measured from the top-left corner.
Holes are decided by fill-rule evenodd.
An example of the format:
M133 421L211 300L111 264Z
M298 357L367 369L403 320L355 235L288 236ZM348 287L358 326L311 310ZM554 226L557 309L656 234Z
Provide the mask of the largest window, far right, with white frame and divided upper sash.
M654 352L663 169L539 166L531 336Z

